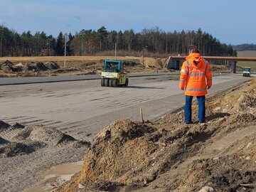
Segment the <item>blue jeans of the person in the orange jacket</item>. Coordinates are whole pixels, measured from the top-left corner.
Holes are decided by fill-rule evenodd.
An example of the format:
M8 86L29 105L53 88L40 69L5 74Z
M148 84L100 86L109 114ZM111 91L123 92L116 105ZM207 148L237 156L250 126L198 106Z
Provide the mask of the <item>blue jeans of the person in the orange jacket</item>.
M199 122L206 122L206 96L196 96L198 100L198 119ZM185 103L185 122L192 122L192 100L193 96L186 95L186 103Z

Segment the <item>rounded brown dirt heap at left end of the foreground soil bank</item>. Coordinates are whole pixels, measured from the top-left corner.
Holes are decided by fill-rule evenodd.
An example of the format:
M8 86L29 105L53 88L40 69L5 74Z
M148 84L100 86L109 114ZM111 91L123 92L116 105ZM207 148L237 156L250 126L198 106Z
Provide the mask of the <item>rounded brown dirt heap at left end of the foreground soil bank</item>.
M143 137L151 132L154 132L154 128L127 119L110 124L97 135L94 146L88 151L81 181L108 180L110 177L117 179L129 172L132 166L141 164L146 154L152 153L155 149L154 142ZM91 156L95 153L96 156ZM115 159L112 159L110 154L115 154ZM133 156L137 156L137 159ZM112 167L114 162L117 166ZM105 169L111 171L100 174Z

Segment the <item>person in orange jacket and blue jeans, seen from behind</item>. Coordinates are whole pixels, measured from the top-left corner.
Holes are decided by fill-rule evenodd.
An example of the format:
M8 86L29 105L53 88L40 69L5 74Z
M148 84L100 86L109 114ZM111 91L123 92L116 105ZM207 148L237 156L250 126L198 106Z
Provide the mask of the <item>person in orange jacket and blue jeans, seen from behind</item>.
M199 50L193 46L189 50L186 61L181 68L179 87L185 90L185 123L192 124L192 100L193 96L198 100L198 120L206 122L206 94L212 86L212 69L207 60L201 58Z

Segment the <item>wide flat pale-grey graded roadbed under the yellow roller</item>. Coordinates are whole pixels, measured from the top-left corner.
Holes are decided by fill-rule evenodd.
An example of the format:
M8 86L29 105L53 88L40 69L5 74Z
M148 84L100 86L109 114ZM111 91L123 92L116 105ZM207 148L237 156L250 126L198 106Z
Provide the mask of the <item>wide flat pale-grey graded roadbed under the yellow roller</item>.
M215 74L210 93L250 80ZM14 124L56 127L77 139L91 140L114 120L154 120L184 105L178 74L129 79L129 87L100 87L100 80L0 86L0 119Z

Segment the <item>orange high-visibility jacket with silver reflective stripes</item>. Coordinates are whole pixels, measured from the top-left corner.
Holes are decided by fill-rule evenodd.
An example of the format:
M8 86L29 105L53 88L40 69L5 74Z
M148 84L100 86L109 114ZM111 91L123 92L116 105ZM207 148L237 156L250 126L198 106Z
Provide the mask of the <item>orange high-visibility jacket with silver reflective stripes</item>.
M199 62L198 65L194 60ZM201 96L207 94L206 85L212 85L209 62L201 58L199 53L189 54L181 68L179 87L185 89L185 95Z

